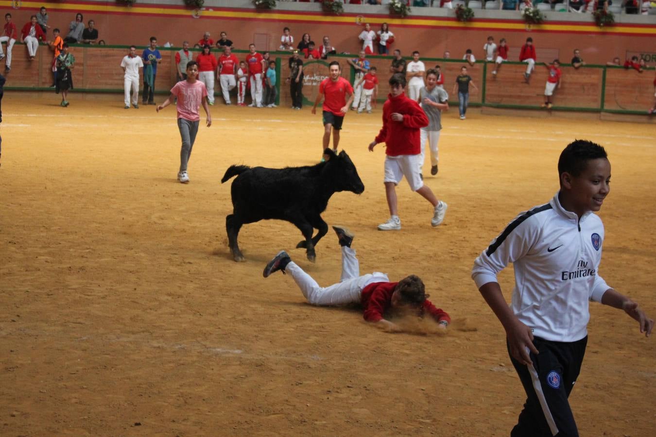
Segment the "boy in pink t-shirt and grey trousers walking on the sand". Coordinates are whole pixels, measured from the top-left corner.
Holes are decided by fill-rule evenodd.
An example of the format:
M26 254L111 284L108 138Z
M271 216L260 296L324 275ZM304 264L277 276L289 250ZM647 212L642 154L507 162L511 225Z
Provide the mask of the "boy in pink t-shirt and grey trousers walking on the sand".
M198 77L198 64L191 61L187 64L187 80L176 83L171 88L171 96L167 100L157 106L157 112L164 109L178 99L176 109L178 111L178 129L180 129L180 137L182 138L182 149L180 149L180 171L178 172L178 181L182 183L189 183L189 176L187 174L187 164L189 157L192 155L192 147L196 134L198 133L198 124L201 119L198 114L198 108L203 105L205 113L207 114L207 127L212 125L212 115L209 113L209 106L207 105L207 88L201 81L197 81Z

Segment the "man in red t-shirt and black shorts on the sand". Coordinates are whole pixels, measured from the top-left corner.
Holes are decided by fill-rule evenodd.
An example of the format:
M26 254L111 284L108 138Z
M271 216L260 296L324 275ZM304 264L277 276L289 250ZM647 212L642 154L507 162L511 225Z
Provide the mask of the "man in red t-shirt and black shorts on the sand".
M312 113L317 113L317 106L323 98L323 147L327 149L330 145L330 133L333 132L333 150L337 150L339 144L339 131L342 129L344 115L353 102L353 87L341 76L342 67L339 62L333 61L328 64L329 77L323 79L319 85L319 94L314 101ZM348 95L348 100L346 96ZM321 159L323 161L323 159Z

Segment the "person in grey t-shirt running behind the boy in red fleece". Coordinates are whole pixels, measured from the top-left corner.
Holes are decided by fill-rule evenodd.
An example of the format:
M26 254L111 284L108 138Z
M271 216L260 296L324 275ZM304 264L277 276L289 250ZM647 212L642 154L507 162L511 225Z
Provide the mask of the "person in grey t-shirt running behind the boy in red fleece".
M430 149L430 174L438 174L438 143L440 142L440 130L442 128L442 111L449 110L449 94L437 85L438 71L429 69L426 71L426 86L419 91L419 104L428 117L428 126L419 131L419 147L421 157L419 159L419 174L423 174L424 151L426 142Z

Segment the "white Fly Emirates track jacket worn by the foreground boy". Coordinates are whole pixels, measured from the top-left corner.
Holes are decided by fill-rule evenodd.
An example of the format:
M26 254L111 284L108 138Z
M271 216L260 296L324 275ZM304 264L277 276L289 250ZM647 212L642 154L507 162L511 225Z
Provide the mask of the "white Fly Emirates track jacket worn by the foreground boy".
M588 212L579 220L556 193L506 226L474 261L472 278L478 288L498 282L513 263L513 313L537 337L577 341L587 335L588 301L601 301L610 288L598 275L603 242L602 219Z

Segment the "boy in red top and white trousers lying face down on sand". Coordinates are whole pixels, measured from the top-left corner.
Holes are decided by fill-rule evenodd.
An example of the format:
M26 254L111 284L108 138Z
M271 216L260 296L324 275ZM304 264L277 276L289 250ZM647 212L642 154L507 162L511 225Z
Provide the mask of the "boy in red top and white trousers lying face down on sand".
M327 287L319 287L312 276L305 273L289 254L282 250L264 267L264 277L276 271L289 273L300 291L312 305L346 305L361 303L363 317L385 332L403 332L403 328L385 318L386 314L405 316L416 314L423 317L428 313L438 322L438 329L446 330L451 318L436 308L426 297L422 280L415 275L407 276L399 282L390 282L387 275L380 272L360 276L356 251L351 248L354 235L348 229L333 226L342 246L342 277L340 282Z

